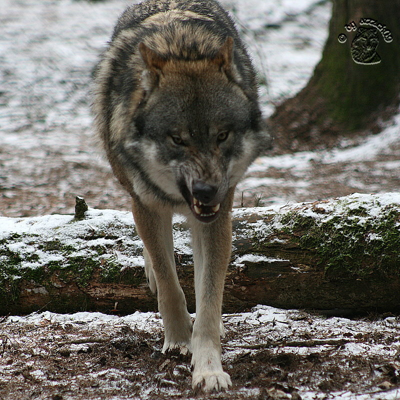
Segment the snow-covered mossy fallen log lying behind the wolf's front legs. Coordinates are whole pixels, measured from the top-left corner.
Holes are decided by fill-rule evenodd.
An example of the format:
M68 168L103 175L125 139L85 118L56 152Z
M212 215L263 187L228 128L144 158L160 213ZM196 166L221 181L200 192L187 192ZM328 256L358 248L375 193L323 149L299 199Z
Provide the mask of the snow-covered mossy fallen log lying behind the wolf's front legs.
M84 208L84 207L83 207ZM400 193L236 208L223 312L257 303L333 313L400 310ZM190 232L173 220L194 312ZM155 310L129 212L0 217L0 314Z

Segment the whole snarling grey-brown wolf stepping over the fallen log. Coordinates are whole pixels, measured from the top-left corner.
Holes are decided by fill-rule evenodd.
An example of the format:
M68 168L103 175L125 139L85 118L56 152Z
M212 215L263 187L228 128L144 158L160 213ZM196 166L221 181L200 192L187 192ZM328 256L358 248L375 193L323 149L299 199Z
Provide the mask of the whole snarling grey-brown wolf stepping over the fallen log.
M217 1L146 0L120 15L92 87L96 132L132 198L162 351L192 352L194 390L225 389L221 304L233 193L269 146L250 57ZM191 228L194 324L176 274L173 213Z

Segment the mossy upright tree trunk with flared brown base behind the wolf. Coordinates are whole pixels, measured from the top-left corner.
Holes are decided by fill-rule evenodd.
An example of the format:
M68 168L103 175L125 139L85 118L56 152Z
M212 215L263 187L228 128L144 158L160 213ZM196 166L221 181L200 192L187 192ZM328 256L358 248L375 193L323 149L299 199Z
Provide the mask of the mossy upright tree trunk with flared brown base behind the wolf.
M399 0L333 0L329 35L312 77L270 118L278 148L329 147L343 136L379 130L377 121L389 117L398 106L399 17ZM387 41L388 36L385 39L372 25L360 24L361 18L386 25L392 41ZM345 25L352 21L356 30L347 31ZM339 34L345 34L344 43L339 42ZM369 40L373 37L378 39L376 51ZM359 63L356 53L361 50L364 55L369 51L378 56L365 55L365 63ZM372 63L379 57L380 62Z

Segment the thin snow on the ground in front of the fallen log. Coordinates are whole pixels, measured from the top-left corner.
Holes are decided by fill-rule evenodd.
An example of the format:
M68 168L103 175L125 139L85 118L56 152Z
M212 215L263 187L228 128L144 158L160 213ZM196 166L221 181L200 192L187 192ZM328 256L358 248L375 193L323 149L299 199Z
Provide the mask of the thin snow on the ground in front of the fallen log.
M191 315L195 318L195 314ZM223 324L229 339L223 340L222 348L223 361L229 365L230 362L246 352L257 351L251 349L253 345L271 343L270 351L275 354L293 353L297 355L309 355L318 351L330 351L332 356L340 354L342 357L362 355L365 359L382 358L390 359L394 357L400 350L400 342L391 341L389 337L395 337L400 330L400 319L397 317L387 317L375 321L369 320L351 320L347 318L330 317L308 314L301 310L283 310L265 305L258 305L249 312L241 314L224 314L222 315ZM47 342L46 346L40 345L34 349L34 352L25 360L25 365L31 368L30 375L38 380L47 384L47 374L40 367L37 359L33 360L34 355L39 355L45 359L48 351L54 346L56 348L57 342L69 347L72 354L79 354L79 352L89 351L89 343L84 342L94 334L95 338L111 337L111 340L118 340L116 337L112 339L113 332L120 331L120 329L131 328L132 332L145 331L155 337L162 336L162 322L160 315L156 312L135 312L131 315L116 316L107 315L99 312L77 312L73 314L57 314L49 311L36 312L26 316L8 316L0 323L2 332L6 333L8 340L14 342L14 345L22 344L26 339L18 337L15 327L18 330L28 329L29 336L35 331L39 331L42 335L41 342ZM25 328L26 326L26 328ZM43 330L45 329L45 330ZM57 329L63 331L62 338L58 335ZM118 330L119 329L119 330ZM369 337L379 337L381 332L384 331L387 337L385 343L379 340L364 340L358 341L359 335L368 335ZM14 332L14 333L12 333ZM51 333L52 332L52 333ZM69 333L68 333L69 332ZM312 333L311 333L312 332ZM314 345L306 344L301 345L304 335L312 334ZM50 335L50 336L48 336ZM48 337L47 337L48 336ZM308 336L309 337L309 336ZM79 343L79 339L83 338ZM326 341L332 339L343 339L342 346L330 346ZM34 338L38 340L38 338ZM48 341L51 340L51 341ZM292 341L298 341L296 346L289 345ZM320 344L318 344L320 342ZM273 343L280 343L273 345ZM285 346L285 343L288 346ZM250 349L250 350L249 350ZM159 348L155 347L155 351ZM72 357L73 355L71 355ZM29 360L31 358L31 360ZM169 362L165 359L165 362ZM136 364L135 364L136 365ZM132 365L133 367L133 365ZM0 363L0 382L3 381L4 376L7 375L11 366L9 364ZM92 364L87 361L88 373L86 375L75 376L70 384L76 384L79 379L101 378L106 382L108 388L121 387L121 385L129 384L129 376L127 371L118 367L105 367L99 370L92 370ZM137 368L137 366L135 366ZM183 368L183 369L182 369ZM162 370L162 367L160 368ZM172 371L172 375L179 376L187 367L184 365L176 365ZM164 377L161 371L157 372L159 381L169 383L169 395L173 393L179 394L173 387L175 382ZM136 376L143 375L144 372L140 369L135 371ZM164 384L162 384L164 386ZM151 398L153 387L142 387L140 397L132 396L130 398ZM234 389L235 393L244 393L250 390L252 394L258 393L259 389L246 389L244 387L237 387ZM400 389L392 388L391 390L381 390L372 388L368 393L357 393L349 391L330 391L329 393L323 391L310 390L302 386L298 389L299 394L303 400L315 399L334 399L334 400L394 400L396 396L400 395ZM149 397L148 397L149 396ZM113 398L113 397L108 397ZM224 398L224 397L223 397ZM282 397L287 398L287 397Z

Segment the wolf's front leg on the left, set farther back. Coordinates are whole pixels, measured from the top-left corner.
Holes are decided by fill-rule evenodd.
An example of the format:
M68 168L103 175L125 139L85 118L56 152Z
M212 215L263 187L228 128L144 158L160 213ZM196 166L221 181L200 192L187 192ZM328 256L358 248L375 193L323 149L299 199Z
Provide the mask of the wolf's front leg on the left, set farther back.
M148 207L138 199L132 201L136 229L143 240L147 271L155 279L158 310L164 324L162 352L179 348L182 353L191 350L192 323L186 300L179 285L173 257L172 212L166 207ZM151 282L150 282L151 283ZM152 282L154 286L154 281ZM155 287L151 287L155 290Z

